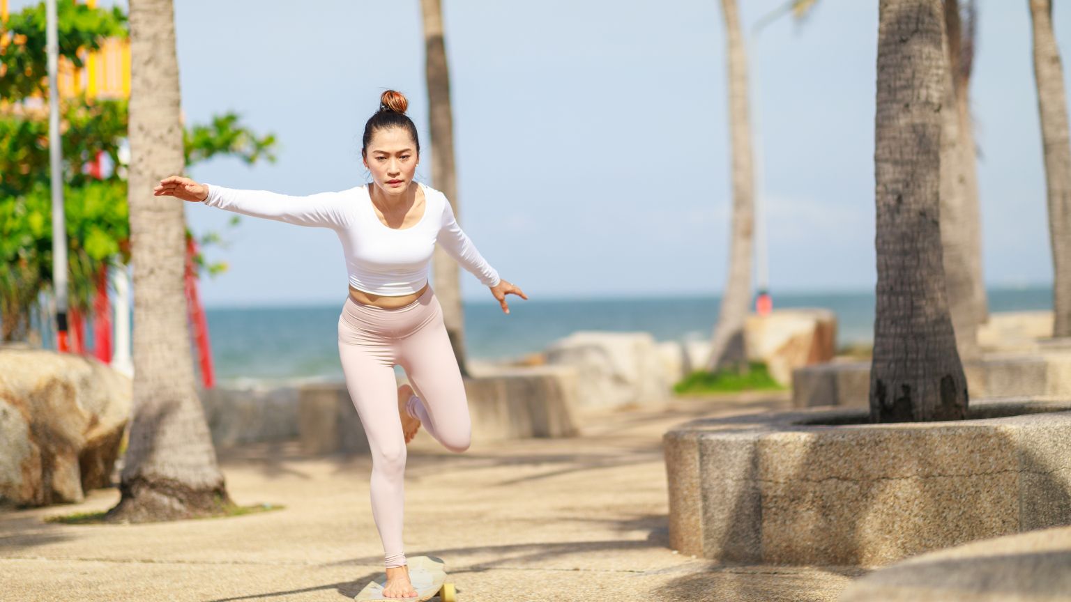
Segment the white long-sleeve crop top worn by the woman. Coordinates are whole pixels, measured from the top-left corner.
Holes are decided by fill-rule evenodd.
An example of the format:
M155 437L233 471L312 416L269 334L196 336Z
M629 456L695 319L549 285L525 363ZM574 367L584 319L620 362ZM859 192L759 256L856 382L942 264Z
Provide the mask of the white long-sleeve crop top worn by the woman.
M447 196L423 183L420 186L424 191L424 215L416 225L402 229L379 221L364 184L308 196L206 185L205 205L288 224L333 229L346 254L349 284L365 292L401 297L423 288L436 242L484 285L499 283L498 272L457 224Z

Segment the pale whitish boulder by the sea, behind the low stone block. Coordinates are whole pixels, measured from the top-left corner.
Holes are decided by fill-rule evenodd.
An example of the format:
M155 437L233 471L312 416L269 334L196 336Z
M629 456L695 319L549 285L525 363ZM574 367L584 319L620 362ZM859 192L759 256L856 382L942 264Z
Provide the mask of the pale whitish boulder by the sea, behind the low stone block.
M584 406L662 404L673 386L648 332L582 330L555 341L545 355L547 364L576 368Z

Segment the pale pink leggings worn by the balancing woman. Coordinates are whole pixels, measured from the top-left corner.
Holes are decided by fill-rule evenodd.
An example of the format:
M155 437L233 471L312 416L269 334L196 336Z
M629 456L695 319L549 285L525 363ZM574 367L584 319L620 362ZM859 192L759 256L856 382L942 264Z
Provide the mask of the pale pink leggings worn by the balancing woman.
M409 416L451 451L467 450L471 439L465 386L432 287L391 310L347 295L338 317L338 357L372 448L372 517L387 566L402 567L406 443L394 364L405 370L416 392L406 404Z

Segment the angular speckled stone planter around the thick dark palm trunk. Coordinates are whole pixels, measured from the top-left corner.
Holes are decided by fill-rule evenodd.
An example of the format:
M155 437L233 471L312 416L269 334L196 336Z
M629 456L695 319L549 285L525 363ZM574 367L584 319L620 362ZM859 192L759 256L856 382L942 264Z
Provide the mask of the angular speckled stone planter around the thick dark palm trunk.
M970 420L864 410L702 419L663 437L674 550L876 566L1071 524L1071 403L972 401Z

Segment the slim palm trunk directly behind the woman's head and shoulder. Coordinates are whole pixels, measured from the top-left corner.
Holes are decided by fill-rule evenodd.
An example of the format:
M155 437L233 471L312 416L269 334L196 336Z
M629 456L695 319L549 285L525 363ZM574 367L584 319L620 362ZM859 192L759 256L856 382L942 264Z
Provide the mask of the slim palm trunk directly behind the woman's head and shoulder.
M428 122L432 129L432 181L447 195L457 223L457 179L454 171L454 125L450 106L450 70L442 34L442 6L439 0L421 0L424 21L425 73L427 76ZM442 305L442 320L454 348L462 375L468 376L465 356L465 312L462 308L461 268L440 246L432 261L435 296Z

